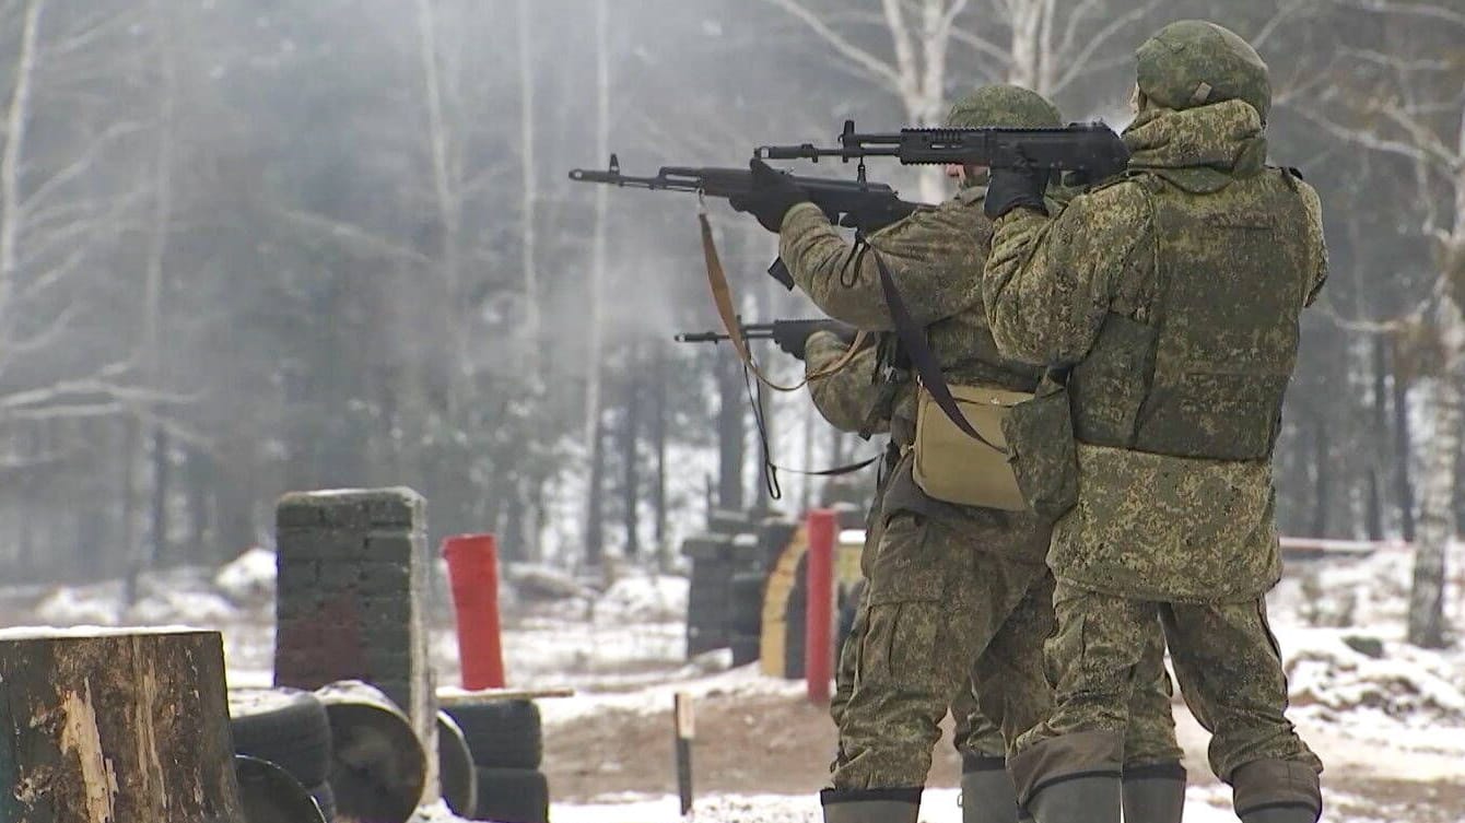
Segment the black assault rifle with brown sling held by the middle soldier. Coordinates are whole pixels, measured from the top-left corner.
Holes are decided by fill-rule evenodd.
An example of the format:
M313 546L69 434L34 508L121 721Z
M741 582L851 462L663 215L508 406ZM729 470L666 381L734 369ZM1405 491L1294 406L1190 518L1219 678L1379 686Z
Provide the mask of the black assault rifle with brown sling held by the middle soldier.
M794 185L803 189L809 199L829 217L845 228L860 231L875 231L889 226L897 220L911 214L920 204L902 201L895 189L885 183L870 183L867 180L838 180L831 177L797 177L788 171ZM691 165L662 165L655 177L633 177L621 174L621 161L614 154L605 171L586 168L570 170L570 179L579 183L607 183L627 189L649 189L653 192L696 192L709 198L732 198L746 195L753 189L753 173L747 168L699 168ZM768 274L794 288L794 278L784 267L784 261L775 259L768 267Z

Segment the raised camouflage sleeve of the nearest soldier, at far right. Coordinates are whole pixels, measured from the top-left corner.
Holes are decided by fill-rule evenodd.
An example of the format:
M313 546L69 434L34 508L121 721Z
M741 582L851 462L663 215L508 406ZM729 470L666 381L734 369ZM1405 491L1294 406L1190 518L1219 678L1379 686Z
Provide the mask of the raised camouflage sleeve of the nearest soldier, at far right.
M1039 365L1081 360L1112 303L1147 303L1138 291L1153 245L1149 204L1132 183L1074 198L1058 217L1020 208L998 218L982 277L998 350Z

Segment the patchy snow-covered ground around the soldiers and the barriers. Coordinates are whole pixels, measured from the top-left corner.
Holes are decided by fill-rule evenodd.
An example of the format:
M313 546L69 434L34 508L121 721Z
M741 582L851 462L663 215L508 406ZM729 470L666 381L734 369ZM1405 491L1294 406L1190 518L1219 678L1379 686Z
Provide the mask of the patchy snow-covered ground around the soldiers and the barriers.
M230 684L267 685L272 656L274 558L251 552L224 570L179 570L144 580L141 600L132 609L119 605L117 583L88 587L15 587L0 590L0 627L4 625L136 625L192 624L223 630ZM1292 718L1318 750L1329 770L1324 775L1329 811L1335 823L1421 820L1425 823L1465 820L1465 653L1427 652L1402 643L1403 608L1409 558L1402 551L1384 551L1362 561L1294 564L1288 580L1270 596L1273 627L1279 636L1292 691ZM513 578L514 576L507 576ZM552 583L549 580L548 583ZM662 735L672 694L689 691L712 712L787 712L806 723L801 729L828 732L826 720L801 699L801 684L759 675L754 666L727 671L727 655L713 653L693 663L683 659L686 580L630 574L607 592L567 587L545 590L546 580L526 573L523 590L507 597L505 660L511 685L571 685L577 696L542 703L546 745L573 751L580 735L596 723L615 720L628 729L646 726ZM554 586L548 586L554 589ZM1452 618L1465 625L1461 592L1452 592ZM440 612L441 614L441 612ZM450 627L435 628L432 656L440 682L457 679L457 647ZM801 712L801 713L800 713ZM779 715L781 718L782 715ZM716 720L718 718L712 718ZM727 718L722 718L724 720ZM716 726L722 740L699 740L700 761L713 757L705 747L743 747L757 766L759 751L774 751L779 729L744 718L746 740L737 738L738 723ZM766 718L763 718L766 720ZM1216 783L1204 766L1204 732L1184 706L1176 706L1182 742L1193 776L1187 820L1207 823L1234 820L1229 791ZM778 719L775 718L775 722ZM702 723L702 719L699 719ZM788 726L793 729L794 726ZM797 734L806 734L806 731ZM590 761L605 761L596 782L577 764L574 776L555 775L546 761L551 786L574 786L570 797L554 805L557 823L658 823L678 820L670 786L637 779L634 760L645 754L614 751L617 741L630 748L630 738L602 729L609 742ZM788 731L788 734L795 734ZM815 734L815 732L807 732ZM568 738L557 747L555 740ZM785 794L760 794L756 788L727 788L724 775L702 775L696 819L766 820L771 823L817 820L817 772L822 750L803 757L809 772L797 775L798 788ZM785 753L787 754L787 753ZM794 756L801 757L800 753ZM655 757L661 757L656 754ZM775 754L765 767L779 769ZM630 766L627 766L627 763ZM712 766L706 766L712 769ZM626 785L617 785L620 769ZM643 769L645 770L645 769ZM656 775L670 763L653 764ZM756 775L754 775L756 776ZM583 778L583 779L582 779ZM784 775L788 783L788 775ZM722 788L716 785L724 783ZM756 783L757 781L752 781ZM772 781L769 781L772 783ZM948 785L929 789L921 817L927 823L960 820L957 792ZM615 791L586 786L615 785ZM570 791L570 789L567 789ZM441 810L440 810L441 811ZM422 820L450 820L423 811Z

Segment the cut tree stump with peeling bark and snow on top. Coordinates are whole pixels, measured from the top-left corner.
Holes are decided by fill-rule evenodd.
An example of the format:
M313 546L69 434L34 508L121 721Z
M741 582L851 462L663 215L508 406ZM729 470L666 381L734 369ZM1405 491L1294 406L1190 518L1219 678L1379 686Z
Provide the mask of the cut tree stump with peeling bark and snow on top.
M217 631L0 631L0 820L243 823Z

